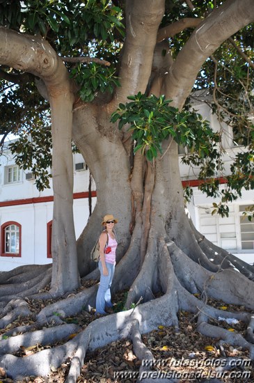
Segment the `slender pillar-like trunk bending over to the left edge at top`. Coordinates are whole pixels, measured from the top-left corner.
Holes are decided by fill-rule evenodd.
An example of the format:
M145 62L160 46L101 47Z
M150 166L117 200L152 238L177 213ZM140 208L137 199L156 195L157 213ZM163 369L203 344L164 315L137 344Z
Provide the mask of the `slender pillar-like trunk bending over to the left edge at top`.
M54 49L40 37L0 28L0 62L30 72L45 84L51 105L54 217L51 294L79 287L72 211L72 104L68 71Z

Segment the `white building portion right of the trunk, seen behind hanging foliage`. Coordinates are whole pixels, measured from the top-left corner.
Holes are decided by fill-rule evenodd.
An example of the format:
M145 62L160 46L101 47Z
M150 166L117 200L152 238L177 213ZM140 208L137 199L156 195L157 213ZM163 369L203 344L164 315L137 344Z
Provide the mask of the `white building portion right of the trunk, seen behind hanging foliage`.
M232 158L235 157L239 150L244 150L244 148L236 145L233 140L232 129L225 124L221 126L216 115L212 114L211 109L206 104L196 102L194 107L206 120L209 120L214 131L223 129L222 143L223 148L225 148L225 154L223 155L224 176L229 175ZM207 197L198 190L198 169L191 169L180 162L180 171L183 185L188 184L193 187L193 198L188 205L188 209L196 228L209 241L252 265L254 263L254 222L248 221L243 212L248 206L254 205L254 191L242 190L241 198L228 204L229 216L222 218L219 214L212 215L214 210L212 203L219 203L219 198ZM225 188L221 174L218 174L217 178L221 180L221 189Z

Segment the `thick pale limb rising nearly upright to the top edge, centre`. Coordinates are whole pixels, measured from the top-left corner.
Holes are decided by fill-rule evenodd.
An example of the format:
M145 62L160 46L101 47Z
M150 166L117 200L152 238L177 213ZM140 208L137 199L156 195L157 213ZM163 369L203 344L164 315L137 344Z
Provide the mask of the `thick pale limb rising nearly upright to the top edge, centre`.
M111 102L125 102L127 95L145 92L152 70L152 58L157 42L159 24L164 15L165 1L128 0L126 2L126 38L122 49L122 61L119 72L121 86Z

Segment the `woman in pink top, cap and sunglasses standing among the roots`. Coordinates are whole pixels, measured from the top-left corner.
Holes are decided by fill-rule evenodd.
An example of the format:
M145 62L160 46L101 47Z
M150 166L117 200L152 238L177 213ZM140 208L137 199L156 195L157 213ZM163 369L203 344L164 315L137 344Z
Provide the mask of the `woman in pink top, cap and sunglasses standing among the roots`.
M113 227L118 222L118 219L114 218L112 214L106 214L102 221L102 225L105 227L100 235L100 286L97 291L96 297L96 313L106 314L105 308L113 306L111 302L111 283L113 280L113 274L115 272L116 265L116 237L113 232Z

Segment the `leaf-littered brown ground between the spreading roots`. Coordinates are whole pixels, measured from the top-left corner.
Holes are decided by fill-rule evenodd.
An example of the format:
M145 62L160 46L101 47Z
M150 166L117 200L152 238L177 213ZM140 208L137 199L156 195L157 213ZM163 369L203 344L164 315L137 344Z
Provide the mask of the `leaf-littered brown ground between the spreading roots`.
M81 289L88 288L93 283L97 283L97 281L84 281ZM113 308L114 311L124 309L126 296L127 292L122 291L113 297L113 301L115 302L115 306ZM28 302L31 311L38 313L43 306L51 304L52 300L48 302ZM224 304L223 302L218 302L214 299L209 299L207 303L211 306L215 306L216 308L232 312L248 311L243 306ZM181 311L178 313L178 318L180 320L180 329L178 332L175 332L173 327L164 327L161 325L158 329L142 335L143 343L152 352L154 359L157 361L157 366L153 366L150 371L150 377L153 377L153 381L155 381L154 377L158 377L159 373L161 373L161 377L163 374L164 377L166 377L166 373L169 371L175 371L177 374L182 374L177 375L177 377L182 377L182 379L177 380L177 382L189 382L190 378L192 378L191 382L205 382L205 380L200 379L200 375L198 375L201 371L207 374L207 376L211 373L215 373L216 367L218 368L219 364L223 364L223 360L225 360L223 358L231 357L232 367L237 359L237 368L234 366L231 372L229 370L224 371L224 377L221 380L212 380L212 382L254 382L253 365L248 359L248 350L242 350L241 347L232 347L231 345L225 343L222 345L218 343L218 339L216 338L208 338L200 335L196 331L196 318L192 313ZM93 320L96 320L93 308L90 313L82 311L82 313L75 318L66 318L67 322L77 323L82 329L84 329L88 323ZM13 327L17 327L19 325L29 325L31 322L33 322L32 316L30 318L26 318L26 320L16 320L15 322L10 323L6 329L2 329L0 331L1 338L5 338L5 334L7 334ZM212 324L219 325L225 329L230 329L230 331L236 331L242 335L246 332L246 324L241 321L229 325L225 322L225 320L221 320L218 323L214 323L214 320L212 320ZM72 336L74 335L75 334ZM37 344L27 348L20 347L17 356L26 357L27 355L33 354L37 350L42 350L42 348L45 347L50 346L42 346ZM243 363L241 359L244 359ZM160 365L159 361L161 361ZM188 364L191 364L191 366L188 366ZM51 375L48 376L47 380L42 377L27 377L22 381L13 381L7 378L4 373L2 373L1 376L0 370L0 382L63 383L68 374L69 365L70 362L65 361L65 364L62 364L61 368L58 370L52 370ZM133 352L132 342L129 341L129 339L124 339L122 341L113 342L107 347L97 349L95 352L86 354L84 365L81 369L81 375L79 376L77 382L132 383L137 381L138 370L140 367L141 361L136 358ZM186 373L196 373L196 378L189 375L189 379L184 379L184 377L187 377ZM148 376L144 375L143 377ZM170 382L173 382L173 380L170 380ZM208 380L206 380L206 382L208 382Z

